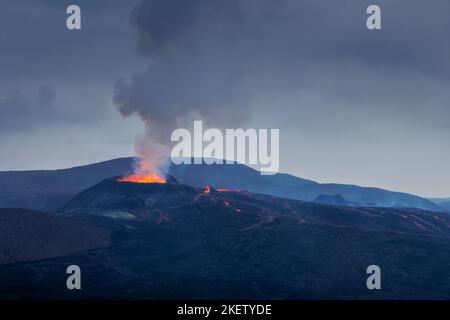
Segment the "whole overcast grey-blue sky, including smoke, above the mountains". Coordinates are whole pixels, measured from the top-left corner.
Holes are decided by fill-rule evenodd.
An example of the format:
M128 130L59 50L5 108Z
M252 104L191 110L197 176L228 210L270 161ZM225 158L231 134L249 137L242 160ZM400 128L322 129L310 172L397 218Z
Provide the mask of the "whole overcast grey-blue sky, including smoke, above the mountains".
M69 4L80 31L66 29ZM366 28L369 4L381 30ZM283 172L450 196L449 12L448 0L3 0L0 170L132 156L141 118L159 141L203 119L279 128Z

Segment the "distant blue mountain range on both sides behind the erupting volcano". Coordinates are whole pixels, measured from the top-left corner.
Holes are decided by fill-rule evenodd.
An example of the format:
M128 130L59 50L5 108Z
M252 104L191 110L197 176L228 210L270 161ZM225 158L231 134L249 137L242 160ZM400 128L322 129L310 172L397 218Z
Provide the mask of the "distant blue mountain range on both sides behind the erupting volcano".
M129 173L133 162L134 158L121 158L62 170L0 172L0 207L56 210L103 179ZM308 202L339 194L355 206L448 209L415 195L379 188L322 184L283 173L263 176L242 164L171 165L169 173L187 185L238 188Z

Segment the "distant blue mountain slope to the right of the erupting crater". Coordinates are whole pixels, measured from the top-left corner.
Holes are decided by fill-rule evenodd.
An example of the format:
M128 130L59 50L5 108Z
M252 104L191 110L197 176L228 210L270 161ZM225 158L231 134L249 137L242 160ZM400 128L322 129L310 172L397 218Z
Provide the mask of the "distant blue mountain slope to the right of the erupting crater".
M262 176L258 171L242 164L172 165L170 174L188 185L239 188L308 202L321 195L339 194L357 206L444 210L427 199L407 193L356 185L317 183L282 173Z

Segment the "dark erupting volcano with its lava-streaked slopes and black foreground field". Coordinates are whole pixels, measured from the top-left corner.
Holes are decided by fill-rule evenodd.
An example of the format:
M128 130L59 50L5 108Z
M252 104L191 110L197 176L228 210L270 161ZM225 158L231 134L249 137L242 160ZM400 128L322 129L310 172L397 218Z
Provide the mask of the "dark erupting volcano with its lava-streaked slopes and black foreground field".
M106 179L59 214L111 232L89 252L0 267L0 297L71 299L55 274L83 266L102 299L448 299L450 217L330 206L245 190ZM383 289L366 288L369 265ZM94 280L95 279L95 280Z

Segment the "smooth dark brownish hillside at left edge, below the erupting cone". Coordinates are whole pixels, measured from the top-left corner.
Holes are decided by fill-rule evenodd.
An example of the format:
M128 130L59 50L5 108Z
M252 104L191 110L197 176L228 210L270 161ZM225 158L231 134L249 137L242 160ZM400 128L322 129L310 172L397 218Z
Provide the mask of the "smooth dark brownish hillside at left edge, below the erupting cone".
M110 244L110 232L26 209L0 209L0 264L64 256Z

